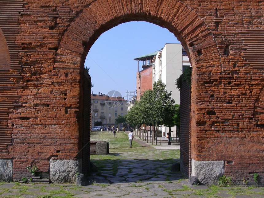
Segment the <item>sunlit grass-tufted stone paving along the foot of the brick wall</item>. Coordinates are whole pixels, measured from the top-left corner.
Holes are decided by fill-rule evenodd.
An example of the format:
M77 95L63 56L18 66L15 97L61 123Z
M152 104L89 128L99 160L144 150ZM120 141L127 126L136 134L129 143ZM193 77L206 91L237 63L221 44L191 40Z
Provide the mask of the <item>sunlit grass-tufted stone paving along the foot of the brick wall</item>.
M76 187L72 184L18 184L4 183L0 185L0 197L23 198L162 198L162 197L231 197L252 198L264 197L264 188L257 187L207 187L184 185L186 180L178 181L145 181L117 182L114 184L94 184Z

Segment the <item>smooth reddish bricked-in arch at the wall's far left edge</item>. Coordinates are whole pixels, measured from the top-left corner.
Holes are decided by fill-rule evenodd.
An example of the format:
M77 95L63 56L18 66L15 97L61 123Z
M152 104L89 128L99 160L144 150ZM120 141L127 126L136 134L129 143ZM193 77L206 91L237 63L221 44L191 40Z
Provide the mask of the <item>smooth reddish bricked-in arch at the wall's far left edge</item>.
M6 38L0 29L0 69L10 69L10 55Z

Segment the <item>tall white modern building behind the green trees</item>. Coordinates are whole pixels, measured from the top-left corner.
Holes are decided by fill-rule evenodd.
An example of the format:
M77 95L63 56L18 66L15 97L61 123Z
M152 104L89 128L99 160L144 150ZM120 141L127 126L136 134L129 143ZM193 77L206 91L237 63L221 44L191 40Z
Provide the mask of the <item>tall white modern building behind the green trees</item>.
M180 91L176 88L175 80L182 74L184 68L190 67L189 58L181 44L166 43L152 60L153 81L161 79L166 84L166 89L172 91L175 104L180 104ZM169 128L162 126L165 135ZM176 127L172 127L173 137L176 137Z

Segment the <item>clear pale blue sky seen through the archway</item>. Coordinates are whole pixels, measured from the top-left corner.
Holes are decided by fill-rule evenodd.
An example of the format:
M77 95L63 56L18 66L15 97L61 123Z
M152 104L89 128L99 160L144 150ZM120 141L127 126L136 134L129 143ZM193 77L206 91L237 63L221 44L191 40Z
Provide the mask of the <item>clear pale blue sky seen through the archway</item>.
M116 90L115 94L120 92L130 100L136 90L138 71L138 61L133 59L161 50L166 43L180 42L168 29L144 21L123 23L103 33L84 63L90 68L94 94Z

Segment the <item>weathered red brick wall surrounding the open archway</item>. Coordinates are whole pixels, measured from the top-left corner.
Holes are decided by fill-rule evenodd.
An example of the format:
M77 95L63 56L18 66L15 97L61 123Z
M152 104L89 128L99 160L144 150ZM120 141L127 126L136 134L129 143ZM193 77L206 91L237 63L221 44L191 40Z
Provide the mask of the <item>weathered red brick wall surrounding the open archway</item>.
M264 38L262 1L12 3L0 6L1 13L10 13L0 15L0 28L11 68L6 73L11 83L0 85L6 119L0 121L1 133L12 135L0 158L14 157L15 179L27 165L45 172L51 157L76 158L84 57L103 32L127 21L169 29L191 60L192 159L233 161L225 171L236 181L253 181L254 172L263 178L264 45L256 45ZM3 95L18 99L6 106Z

